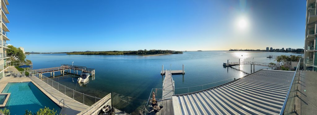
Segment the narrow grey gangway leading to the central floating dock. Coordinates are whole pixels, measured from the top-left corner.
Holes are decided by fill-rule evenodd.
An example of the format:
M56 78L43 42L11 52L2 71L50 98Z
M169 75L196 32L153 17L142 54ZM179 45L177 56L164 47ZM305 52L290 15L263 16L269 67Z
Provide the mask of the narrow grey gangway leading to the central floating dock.
M174 83L171 71L165 71L165 78L163 83L163 99L171 99L174 94Z

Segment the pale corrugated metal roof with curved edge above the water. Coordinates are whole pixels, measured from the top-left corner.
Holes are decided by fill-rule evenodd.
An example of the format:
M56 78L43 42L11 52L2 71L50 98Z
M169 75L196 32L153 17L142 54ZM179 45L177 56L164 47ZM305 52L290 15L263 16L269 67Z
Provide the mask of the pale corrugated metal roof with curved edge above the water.
M222 86L173 95L175 115L279 114L294 72L260 70Z

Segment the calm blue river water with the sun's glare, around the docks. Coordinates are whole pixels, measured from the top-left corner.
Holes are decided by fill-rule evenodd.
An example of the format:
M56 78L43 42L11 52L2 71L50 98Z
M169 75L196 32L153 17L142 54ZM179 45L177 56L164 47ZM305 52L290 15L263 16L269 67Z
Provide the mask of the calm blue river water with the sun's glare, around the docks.
M273 55L273 59L266 58ZM229 51L187 51L184 54L161 55L161 56L139 56L139 55L67 55L67 54L31 54L27 59L32 60L33 69L61 66L61 64L72 64L94 68L96 76L90 78L88 84L80 86L76 83L77 78L68 75L64 78L55 78L61 84L74 88L85 94L103 97L108 93L132 97L122 101L118 108L133 112L136 106L144 104L144 100L150 95L152 88L161 88L163 77L160 75L161 66L165 69L181 70L185 65L186 74L173 75L175 88L197 86L212 83L228 78L240 78L245 76L244 72L250 73L250 65L241 65L237 71L232 68L224 68L223 63L229 61L254 61L274 62L278 55L298 55L278 52L229 52ZM171 65L171 66L170 66ZM235 67L237 68L237 67ZM255 71L267 67L255 66ZM55 76L60 73L56 72ZM50 74L44 74L50 76ZM115 94L114 93L114 94ZM120 101L120 100L119 100ZM125 106L123 106L125 105Z

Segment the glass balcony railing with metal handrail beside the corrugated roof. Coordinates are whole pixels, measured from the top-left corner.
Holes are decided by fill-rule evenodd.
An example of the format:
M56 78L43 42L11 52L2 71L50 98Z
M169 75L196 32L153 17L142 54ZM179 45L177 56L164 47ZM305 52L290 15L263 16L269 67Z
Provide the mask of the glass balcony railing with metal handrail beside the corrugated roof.
M298 87L296 87L296 85L298 85L298 79L300 77L300 72L301 72L300 70L302 69L301 67L303 66L303 61L304 61L303 58L301 58L298 61L291 85L289 86L288 93L286 95L284 104L282 106L280 115L295 112L295 109L296 109L294 106L295 105L295 97L297 96L297 90L298 90L297 89Z

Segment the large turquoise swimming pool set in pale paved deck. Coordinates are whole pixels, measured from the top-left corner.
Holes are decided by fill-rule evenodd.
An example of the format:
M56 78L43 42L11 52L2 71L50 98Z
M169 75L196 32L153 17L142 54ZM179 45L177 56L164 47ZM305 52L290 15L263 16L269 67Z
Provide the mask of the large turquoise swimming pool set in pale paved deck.
M32 82L8 83L2 93L11 93L5 108L10 110L12 115L23 115L25 110L37 112L40 108L49 107L57 113L61 107L49 99Z

